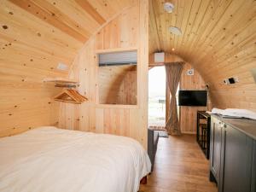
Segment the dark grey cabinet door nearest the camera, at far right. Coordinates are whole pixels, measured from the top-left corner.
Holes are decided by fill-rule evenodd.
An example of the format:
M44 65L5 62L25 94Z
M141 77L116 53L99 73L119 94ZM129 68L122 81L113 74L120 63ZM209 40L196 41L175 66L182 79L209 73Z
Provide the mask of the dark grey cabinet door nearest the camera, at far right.
M224 125L224 158L219 191L250 192L253 139L229 125Z

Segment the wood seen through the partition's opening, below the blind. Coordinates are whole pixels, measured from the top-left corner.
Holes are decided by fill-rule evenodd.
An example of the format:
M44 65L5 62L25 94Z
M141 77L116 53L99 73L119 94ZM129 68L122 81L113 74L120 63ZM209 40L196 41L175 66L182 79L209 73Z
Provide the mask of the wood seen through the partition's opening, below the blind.
M99 67L100 104L137 104L137 67Z

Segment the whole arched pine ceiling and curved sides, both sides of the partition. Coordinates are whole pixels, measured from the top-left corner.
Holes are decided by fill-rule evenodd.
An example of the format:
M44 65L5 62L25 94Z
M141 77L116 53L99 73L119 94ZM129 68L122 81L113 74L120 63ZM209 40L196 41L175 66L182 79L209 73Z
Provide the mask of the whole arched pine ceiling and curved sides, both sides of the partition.
M220 108L256 110L256 5L253 0L148 0L149 50L164 50L193 64L210 84ZM171 1L171 0L170 0ZM0 1L0 135L38 125L54 125L59 90L44 78L65 78L83 44L108 20L137 0L1 0ZM176 37L169 26L183 31ZM57 69L58 63L67 70ZM237 76L238 84L223 79Z

